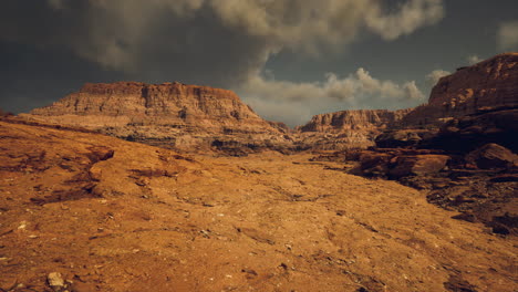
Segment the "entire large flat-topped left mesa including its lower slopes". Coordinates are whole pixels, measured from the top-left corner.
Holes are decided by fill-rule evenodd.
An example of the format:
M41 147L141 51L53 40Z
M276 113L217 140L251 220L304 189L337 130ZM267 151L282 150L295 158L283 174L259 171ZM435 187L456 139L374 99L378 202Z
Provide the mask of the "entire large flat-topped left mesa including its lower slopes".
M232 154L245 155L288 143L284 127L262 119L234 92L177 82L87 83L25 117L188 150L231 145Z

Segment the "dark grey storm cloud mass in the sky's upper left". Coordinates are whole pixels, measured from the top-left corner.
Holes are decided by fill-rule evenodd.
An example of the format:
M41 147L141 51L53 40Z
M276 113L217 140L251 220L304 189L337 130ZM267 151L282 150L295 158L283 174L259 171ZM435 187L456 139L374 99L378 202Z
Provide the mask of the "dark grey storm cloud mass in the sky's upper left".
M228 86L260 66L269 45L207 8L194 17L158 1L10 1L1 13L3 41L69 51L148 81Z

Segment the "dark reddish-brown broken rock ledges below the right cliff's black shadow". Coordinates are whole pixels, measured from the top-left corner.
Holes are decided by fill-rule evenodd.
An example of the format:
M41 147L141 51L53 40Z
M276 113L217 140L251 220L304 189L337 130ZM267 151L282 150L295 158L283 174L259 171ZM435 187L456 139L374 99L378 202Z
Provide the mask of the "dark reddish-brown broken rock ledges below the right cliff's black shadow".
M373 147L312 160L345 161L343 170L351 174L398 180L421 189L429 202L462 212L455 219L483 222L495 233L518 234L517 155L500 145L488 144L467 155Z

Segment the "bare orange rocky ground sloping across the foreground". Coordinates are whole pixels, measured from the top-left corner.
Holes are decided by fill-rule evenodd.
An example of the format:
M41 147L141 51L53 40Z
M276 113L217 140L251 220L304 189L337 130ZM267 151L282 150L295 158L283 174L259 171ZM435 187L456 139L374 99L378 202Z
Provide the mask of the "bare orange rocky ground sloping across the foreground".
M1 291L516 291L516 244L307 154L0 121Z

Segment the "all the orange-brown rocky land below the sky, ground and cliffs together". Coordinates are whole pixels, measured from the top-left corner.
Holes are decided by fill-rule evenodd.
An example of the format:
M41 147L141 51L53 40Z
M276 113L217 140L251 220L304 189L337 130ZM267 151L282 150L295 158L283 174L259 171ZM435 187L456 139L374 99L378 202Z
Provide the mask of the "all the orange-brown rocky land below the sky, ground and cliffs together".
M296 129L180 83L0 111L0 291L518 291L517 60Z

